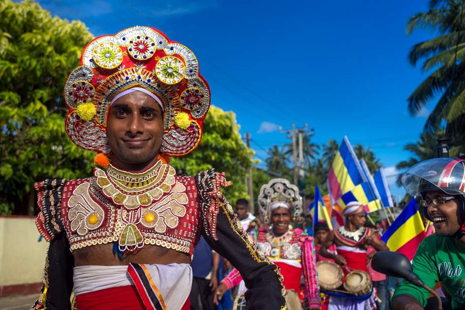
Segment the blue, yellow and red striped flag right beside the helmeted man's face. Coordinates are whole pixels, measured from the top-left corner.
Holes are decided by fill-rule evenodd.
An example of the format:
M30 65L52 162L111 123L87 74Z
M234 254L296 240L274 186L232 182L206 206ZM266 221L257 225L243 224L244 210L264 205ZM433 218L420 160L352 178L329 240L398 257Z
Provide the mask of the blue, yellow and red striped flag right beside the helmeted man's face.
M425 236L425 227L420 212L415 199L412 199L386 230L381 240L391 251L403 253L409 260L412 260L418 245Z

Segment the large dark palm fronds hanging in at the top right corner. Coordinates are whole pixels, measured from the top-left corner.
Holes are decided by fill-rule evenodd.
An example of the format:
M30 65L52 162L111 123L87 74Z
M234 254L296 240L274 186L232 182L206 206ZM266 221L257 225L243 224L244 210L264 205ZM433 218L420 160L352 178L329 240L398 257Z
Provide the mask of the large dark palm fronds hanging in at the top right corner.
M418 28L435 29L440 34L414 45L409 53L412 65L424 60L424 71L434 70L408 97L408 109L416 115L434 97L439 99L425 124L433 134L446 122L447 134L455 133L456 144L465 136L465 12L464 0L432 0L430 10L412 16L407 34Z

